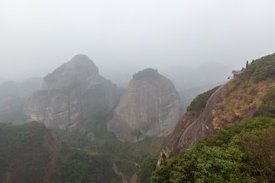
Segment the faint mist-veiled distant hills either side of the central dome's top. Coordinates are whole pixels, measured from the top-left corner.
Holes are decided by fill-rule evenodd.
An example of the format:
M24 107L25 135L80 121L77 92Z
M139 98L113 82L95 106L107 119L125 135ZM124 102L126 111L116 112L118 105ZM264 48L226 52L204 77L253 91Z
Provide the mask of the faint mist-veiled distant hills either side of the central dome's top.
M102 68L101 73L119 87L126 88L132 79L132 73L143 68L146 68L146 66L142 66L139 63L113 64ZM161 68L158 72L173 81L177 90L184 90L212 83L225 82L232 75L232 70L231 66L225 66L216 62L205 62L197 68L170 66Z

